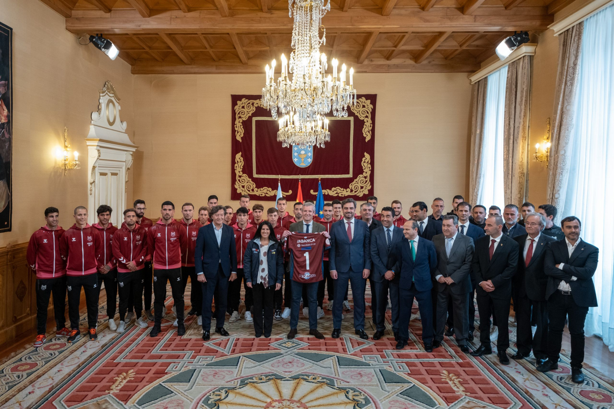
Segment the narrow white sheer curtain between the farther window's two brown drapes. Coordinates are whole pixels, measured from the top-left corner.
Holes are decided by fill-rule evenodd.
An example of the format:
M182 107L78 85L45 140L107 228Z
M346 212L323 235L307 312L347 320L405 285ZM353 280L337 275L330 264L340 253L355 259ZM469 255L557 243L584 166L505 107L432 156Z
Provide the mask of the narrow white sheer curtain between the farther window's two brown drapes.
M478 201L503 209L503 127L505 117L505 85L507 66L488 76L486 109L484 113L484 139L481 152L481 175L478 178Z

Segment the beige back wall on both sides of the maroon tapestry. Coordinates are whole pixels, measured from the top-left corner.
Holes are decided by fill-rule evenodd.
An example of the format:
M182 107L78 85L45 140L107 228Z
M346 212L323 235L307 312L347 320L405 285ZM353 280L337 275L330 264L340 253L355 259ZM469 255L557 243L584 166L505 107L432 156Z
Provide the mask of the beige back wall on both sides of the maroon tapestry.
M264 75L134 77L139 150L133 194L147 202L148 216L159 215L164 200L198 207L209 194L236 207L229 200L230 95L260 94L263 82ZM379 208L399 199L406 214L415 201L430 205L441 196L449 204L455 194L467 194L467 74L356 74L354 82L359 93L378 94L374 186ZM252 198L257 202L273 205Z

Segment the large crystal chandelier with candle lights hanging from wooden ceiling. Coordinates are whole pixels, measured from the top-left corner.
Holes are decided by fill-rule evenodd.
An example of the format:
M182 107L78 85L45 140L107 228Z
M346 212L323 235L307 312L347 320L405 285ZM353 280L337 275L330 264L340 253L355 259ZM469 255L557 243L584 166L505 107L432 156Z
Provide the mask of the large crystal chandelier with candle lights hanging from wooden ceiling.
M337 77L338 61L333 58L333 74L328 77L327 58L320 53L320 45L326 44L326 29L322 17L330 10L330 0L290 0L289 15L294 15L290 61L281 55L281 75L275 79L276 61L266 65L266 85L262 88L262 105L271 110L274 119L279 117L277 140L282 147L309 145L324 147L330 141L328 119L333 110L337 118L348 116L348 105L356 104L353 85L354 69L349 69L349 85L346 83L346 66L341 66ZM322 29L322 38L318 31ZM289 74L292 73L292 80ZM279 111L279 115L278 114Z

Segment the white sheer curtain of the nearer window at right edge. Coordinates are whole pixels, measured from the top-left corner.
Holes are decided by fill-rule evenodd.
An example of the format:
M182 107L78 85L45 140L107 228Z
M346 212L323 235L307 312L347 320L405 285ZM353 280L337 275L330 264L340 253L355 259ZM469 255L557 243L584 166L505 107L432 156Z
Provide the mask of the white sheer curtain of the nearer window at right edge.
M599 307L589 310L585 331L614 351L614 236L607 210L614 203L614 6L584 21L578 71L562 216L578 216L581 237L599 248L593 278Z

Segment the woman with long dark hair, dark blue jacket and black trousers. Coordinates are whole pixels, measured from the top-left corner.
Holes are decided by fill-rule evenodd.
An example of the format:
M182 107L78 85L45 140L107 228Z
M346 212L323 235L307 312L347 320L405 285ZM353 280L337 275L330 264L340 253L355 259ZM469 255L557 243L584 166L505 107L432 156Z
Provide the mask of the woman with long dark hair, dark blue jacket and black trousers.
M284 278L284 250L268 221L260 223L254 240L247 245L243 271L254 296L256 338L263 333L269 338L273 329L273 294L281 288Z

